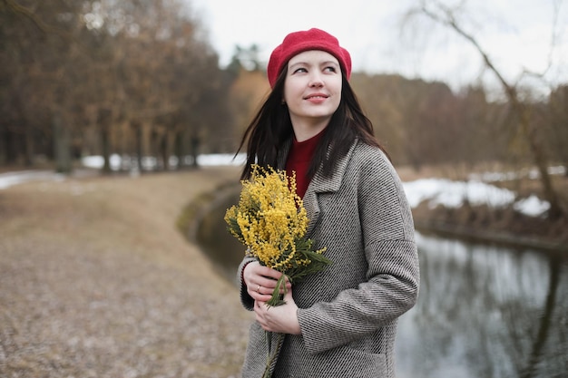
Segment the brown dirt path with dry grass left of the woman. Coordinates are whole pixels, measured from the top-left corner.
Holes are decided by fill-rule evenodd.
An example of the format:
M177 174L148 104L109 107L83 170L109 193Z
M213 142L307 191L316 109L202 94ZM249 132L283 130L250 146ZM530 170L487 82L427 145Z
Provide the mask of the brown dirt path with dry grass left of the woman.
M1 377L237 377L252 318L175 228L207 168L0 190Z

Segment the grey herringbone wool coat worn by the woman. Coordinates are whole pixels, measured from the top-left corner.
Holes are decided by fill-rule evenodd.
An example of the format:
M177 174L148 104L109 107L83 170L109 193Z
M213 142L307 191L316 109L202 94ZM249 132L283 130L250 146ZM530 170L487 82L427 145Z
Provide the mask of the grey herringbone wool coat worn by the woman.
M412 215L396 171L381 150L355 142L331 178L312 179L303 200L307 237L328 247L333 264L293 286L302 334L273 343L273 378L395 377L397 318L415 304L419 282ZM252 309L244 284L241 300ZM255 322L242 377L260 378L266 356Z

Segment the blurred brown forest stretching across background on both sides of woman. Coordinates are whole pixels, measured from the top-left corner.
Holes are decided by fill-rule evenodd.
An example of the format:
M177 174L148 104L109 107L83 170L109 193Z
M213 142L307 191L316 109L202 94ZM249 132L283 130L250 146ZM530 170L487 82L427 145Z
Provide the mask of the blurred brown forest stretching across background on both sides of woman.
M431 3L415 13L463 34L451 10ZM69 172L101 155L110 172L119 154L171 170L233 153L269 90L256 56L254 45L235 46L220 68L205 25L179 0L0 0L0 169ZM566 213L548 168L568 167L568 83L543 96L503 81L504 94L490 96L394 74L350 82L396 165L535 167L550 215Z

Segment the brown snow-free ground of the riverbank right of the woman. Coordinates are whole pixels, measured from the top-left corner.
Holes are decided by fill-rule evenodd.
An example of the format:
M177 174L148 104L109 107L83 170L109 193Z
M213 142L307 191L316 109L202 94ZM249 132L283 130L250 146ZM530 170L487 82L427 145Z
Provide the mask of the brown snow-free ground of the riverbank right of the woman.
M465 174L446 175L440 169L416 172L409 168L397 169L401 179L413 181L431 177L448 177L467 181ZM472 172L468 172L471 175ZM480 172L477 173L481 175ZM568 204L568 177L553 176L554 188L561 203ZM509 189L521 199L536 196L544 199L537 179L503 179L492 182L496 188ZM474 205L465 201L459 208L437 205L432 208L428 200L412 209L416 229L435 232L450 237L463 237L476 242L498 243L512 247L533 247L535 249L562 253L568 256L568 217L551 220L531 216L512 207L492 208L486 204Z

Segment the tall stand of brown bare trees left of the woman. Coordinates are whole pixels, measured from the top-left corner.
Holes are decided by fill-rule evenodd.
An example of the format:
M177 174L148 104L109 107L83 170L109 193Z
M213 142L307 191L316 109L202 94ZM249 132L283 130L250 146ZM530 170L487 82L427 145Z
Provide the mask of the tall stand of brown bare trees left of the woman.
M0 0L0 163L217 145L218 56L180 0ZM211 138L210 138L211 137ZM210 138L208 140L208 138ZM45 142L47 141L47 142Z

